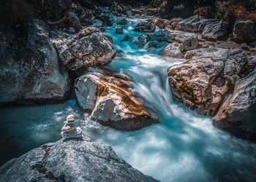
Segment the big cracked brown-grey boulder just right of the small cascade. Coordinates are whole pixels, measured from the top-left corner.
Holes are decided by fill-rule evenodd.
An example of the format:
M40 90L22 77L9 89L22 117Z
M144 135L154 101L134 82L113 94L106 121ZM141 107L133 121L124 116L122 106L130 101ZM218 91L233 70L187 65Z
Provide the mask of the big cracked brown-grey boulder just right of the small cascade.
M246 72L246 53L211 47L189 51L185 58L167 70L174 98L201 114L215 114L231 80Z

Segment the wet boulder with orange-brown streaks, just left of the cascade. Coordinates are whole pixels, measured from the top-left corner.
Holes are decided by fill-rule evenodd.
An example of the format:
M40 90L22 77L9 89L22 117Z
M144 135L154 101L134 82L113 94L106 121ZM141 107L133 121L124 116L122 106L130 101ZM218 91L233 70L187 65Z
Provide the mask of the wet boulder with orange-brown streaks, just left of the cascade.
M156 123L143 103L130 90L129 76L91 70L75 82L75 93L91 119L119 130L137 130Z

